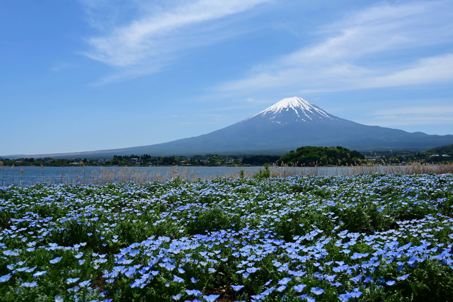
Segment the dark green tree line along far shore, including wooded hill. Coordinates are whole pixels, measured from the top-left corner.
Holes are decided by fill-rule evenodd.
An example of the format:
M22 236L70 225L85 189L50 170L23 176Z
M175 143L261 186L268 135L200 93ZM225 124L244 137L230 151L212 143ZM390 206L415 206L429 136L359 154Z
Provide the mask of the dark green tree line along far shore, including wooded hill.
M388 150L363 154L337 147L305 146L283 155L222 155L188 156L114 155L111 159L87 158L0 158L0 166L344 166L361 164L452 163L453 144L424 151Z

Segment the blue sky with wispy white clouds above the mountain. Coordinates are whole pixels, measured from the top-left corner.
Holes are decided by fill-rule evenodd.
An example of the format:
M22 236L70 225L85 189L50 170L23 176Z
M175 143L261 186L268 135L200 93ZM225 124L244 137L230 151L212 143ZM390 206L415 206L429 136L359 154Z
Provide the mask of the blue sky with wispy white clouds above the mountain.
M453 134L452 1L0 2L0 154L163 143L301 96Z

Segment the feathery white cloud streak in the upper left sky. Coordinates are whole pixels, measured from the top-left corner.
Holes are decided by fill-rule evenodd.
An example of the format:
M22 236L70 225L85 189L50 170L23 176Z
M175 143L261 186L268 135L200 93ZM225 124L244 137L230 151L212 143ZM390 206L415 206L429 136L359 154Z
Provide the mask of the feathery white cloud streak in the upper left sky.
M250 10L267 1L195 0L166 10L163 7L154 12L144 9L145 14L140 18L122 26L113 26L103 35L88 38L90 49L82 54L121 70L104 78L101 83L153 73L176 56L178 50L209 43L206 36L197 39L197 34L206 34L207 31L197 25ZM92 13L89 16L89 24L96 29L105 28L99 21L93 21ZM218 35L209 37L211 40L218 38Z

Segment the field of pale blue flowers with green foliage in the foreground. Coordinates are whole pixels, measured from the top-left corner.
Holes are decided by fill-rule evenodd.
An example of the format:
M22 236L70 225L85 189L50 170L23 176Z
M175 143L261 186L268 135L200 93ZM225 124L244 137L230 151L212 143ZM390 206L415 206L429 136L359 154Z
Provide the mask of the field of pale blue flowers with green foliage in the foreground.
M453 175L0 187L1 301L451 301Z

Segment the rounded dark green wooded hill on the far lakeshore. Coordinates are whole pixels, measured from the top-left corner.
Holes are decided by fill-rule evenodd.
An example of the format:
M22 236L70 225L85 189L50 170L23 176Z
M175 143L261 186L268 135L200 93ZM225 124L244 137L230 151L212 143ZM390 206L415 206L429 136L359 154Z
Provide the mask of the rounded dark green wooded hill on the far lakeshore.
M359 164L364 160L365 156L361 153L339 146L336 148L305 146L282 155L277 163L297 164L298 166L324 166Z

